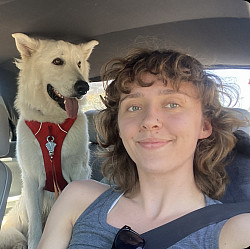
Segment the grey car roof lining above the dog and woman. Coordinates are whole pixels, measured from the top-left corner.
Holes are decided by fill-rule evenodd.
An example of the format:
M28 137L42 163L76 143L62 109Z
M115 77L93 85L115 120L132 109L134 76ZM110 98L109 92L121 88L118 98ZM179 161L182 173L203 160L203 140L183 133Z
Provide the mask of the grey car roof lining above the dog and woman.
M195 11L194 11L195 6ZM12 33L100 42L90 78L128 48L148 45L188 52L213 67L250 67L250 4L243 0L5 0L0 4L0 67L17 73ZM158 43L158 44L157 44Z

